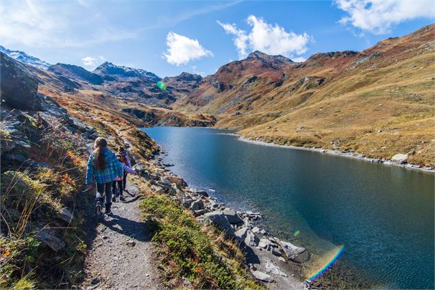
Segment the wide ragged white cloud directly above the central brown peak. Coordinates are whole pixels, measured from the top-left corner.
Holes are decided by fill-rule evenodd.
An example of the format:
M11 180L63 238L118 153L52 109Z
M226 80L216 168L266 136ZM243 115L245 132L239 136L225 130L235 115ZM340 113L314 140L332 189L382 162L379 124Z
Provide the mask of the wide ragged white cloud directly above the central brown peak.
M248 51L254 50L295 58L295 55L301 55L308 50L308 43L312 40L312 37L306 33L286 32L278 24L266 23L262 18L253 15L247 18L247 23L252 27L249 33L238 29L235 24L220 21L217 23L227 34L234 35L234 45L239 58L245 58Z

